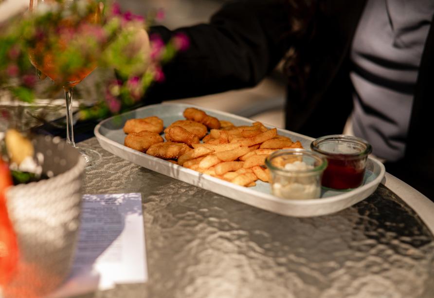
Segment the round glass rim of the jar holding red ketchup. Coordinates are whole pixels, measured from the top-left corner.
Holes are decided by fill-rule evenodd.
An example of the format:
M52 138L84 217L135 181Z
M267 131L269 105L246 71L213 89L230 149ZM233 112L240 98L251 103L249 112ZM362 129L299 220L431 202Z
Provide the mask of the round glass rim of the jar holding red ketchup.
M358 152L358 153L333 153L333 152L322 150L319 147L321 143L325 143L328 141L339 141L339 140L348 143L362 145L364 146L365 149L362 152ZM318 152L329 157L344 158L344 159L361 158L366 155L369 155L372 152L372 146L366 140L359 137L346 135L346 134L331 134L331 135L319 137L316 140L313 140L312 143L310 143L310 149L314 152Z

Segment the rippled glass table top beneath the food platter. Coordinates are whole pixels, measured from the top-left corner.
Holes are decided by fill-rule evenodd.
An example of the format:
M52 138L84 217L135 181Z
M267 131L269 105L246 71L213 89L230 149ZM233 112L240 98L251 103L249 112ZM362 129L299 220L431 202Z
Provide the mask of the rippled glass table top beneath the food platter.
M80 145L104 159L85 193L142 193L149 274L89 297L434 297L434 237L385 186L341 212L291 218L139 167L95 138Z

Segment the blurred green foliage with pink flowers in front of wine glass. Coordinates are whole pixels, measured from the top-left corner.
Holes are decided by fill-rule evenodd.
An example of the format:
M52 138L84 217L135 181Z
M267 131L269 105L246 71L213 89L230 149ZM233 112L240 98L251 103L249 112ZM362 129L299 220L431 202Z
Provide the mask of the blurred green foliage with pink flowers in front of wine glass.
M152 82L163 77L160 65L170 61L179 48L174 42L159 44L158 51L152 42L147 47L143 30L155 13L145 20L122 13L117 4L104 0L101 12L99 2L58 0L55 5L39 10L36 7L31 14L1 24L0 89L8 90L20 101L32 102L37 81L32 63L40 74L53 79L46 87L46 97L98 67L116 70L122 81L101 78L93 84L92 93L98 94L98 102L85 109L82 117L106 117L137 105Z

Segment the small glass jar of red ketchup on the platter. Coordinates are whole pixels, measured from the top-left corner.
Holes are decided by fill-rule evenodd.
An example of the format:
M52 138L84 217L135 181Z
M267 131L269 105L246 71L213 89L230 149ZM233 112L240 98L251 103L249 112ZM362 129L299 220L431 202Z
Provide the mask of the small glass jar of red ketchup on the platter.
M362 185L366 160L372 147L361 138L334 134L320 137L310 144L312 151L326 157L322 185L332 189L349 190Z

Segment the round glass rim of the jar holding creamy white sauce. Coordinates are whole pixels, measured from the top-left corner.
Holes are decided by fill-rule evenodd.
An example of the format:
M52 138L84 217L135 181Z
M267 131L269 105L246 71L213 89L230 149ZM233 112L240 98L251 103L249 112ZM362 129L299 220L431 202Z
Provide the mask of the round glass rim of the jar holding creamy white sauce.
M310 169L304 169L304 170L287 170L285 168L279 168L274 166L271 163L271 160L275 157L278 156L282 156L282 155L286 155L288 153L291 153L290 155L294 155L294 156L303 156L303 155L307 155L310 157L313 157L315 160L320 161L321 163L314 167L314 168L310 168ZM306 150L306 149L300 149L300 148L294 148L294 149L282 149L282 150L278 150L275 151L273 153L271 153L269 156L267 156L267 158L265 159L265 165L267 166L267 168L269 168L270 170L276 171L276 172L280 172L281 174L290 174L290 173L297 173L297 174L315 174L316 172L322 172L326 169L327 167L327 160L326 158L324 158L324 156L322 156L321 154L318 154L316 152L310 151L310 150Z

